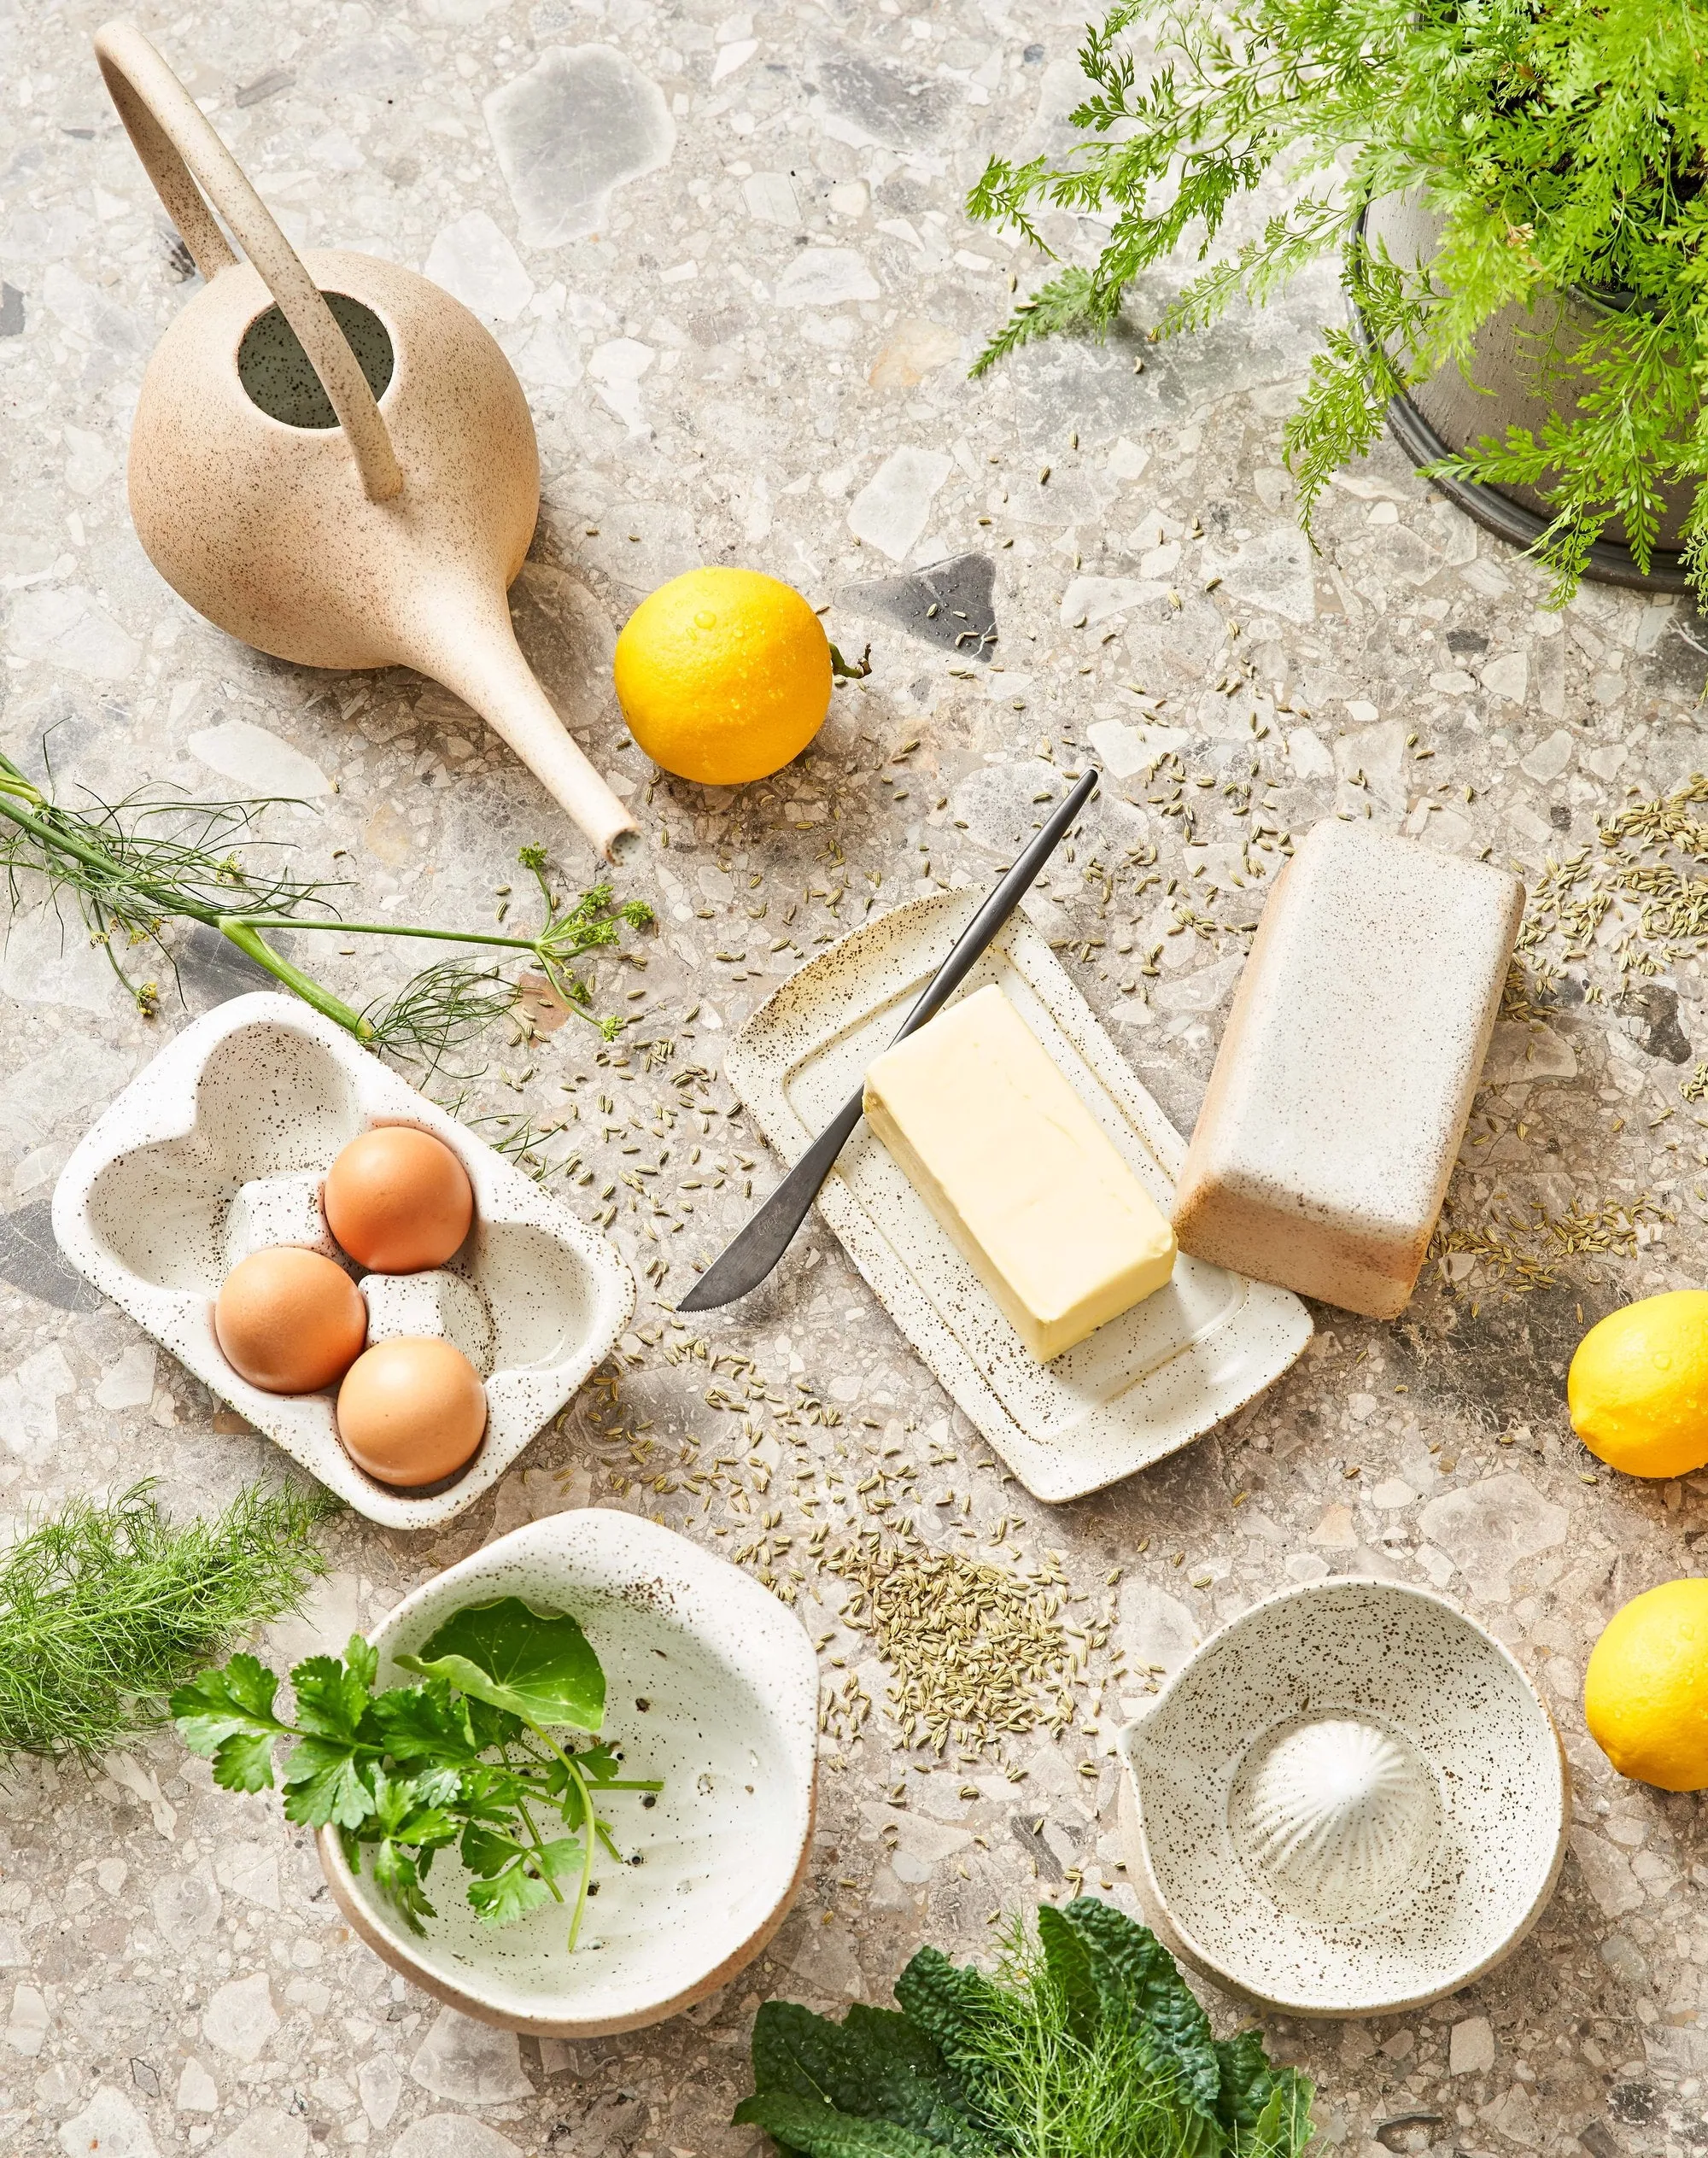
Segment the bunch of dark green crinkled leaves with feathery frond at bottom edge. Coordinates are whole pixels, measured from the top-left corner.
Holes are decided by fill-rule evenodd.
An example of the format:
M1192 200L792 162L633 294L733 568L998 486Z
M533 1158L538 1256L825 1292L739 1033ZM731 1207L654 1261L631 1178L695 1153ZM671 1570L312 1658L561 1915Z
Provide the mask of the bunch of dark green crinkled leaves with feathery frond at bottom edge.
M1168 1951L1077 1897L1015 1927L995 1975L920 1949L900 2013L754 2020L736 2121L786 2158L1300 2158L1311 2085L1257 2031L1216 2041Z

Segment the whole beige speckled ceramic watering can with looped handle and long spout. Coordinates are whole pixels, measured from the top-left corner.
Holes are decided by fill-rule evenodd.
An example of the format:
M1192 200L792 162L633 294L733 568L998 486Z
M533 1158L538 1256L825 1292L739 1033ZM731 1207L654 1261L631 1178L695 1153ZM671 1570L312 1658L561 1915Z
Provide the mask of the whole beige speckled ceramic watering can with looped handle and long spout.
M497 341L397 263L343 248L298 257L143 32L112 22L95 54L207 281L160 339L136 401L130 509L155 570L276 658L402 665L443 682L611 859L635 822L510 628L540 455Z

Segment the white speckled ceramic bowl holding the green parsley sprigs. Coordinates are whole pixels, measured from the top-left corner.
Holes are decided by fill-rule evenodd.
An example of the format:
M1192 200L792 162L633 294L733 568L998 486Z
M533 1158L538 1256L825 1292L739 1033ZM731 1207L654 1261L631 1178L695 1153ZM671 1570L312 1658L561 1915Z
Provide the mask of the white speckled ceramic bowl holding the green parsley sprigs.
M663 2022L749 1964L795 1901L812 1843L818 1660L801 1621L726 1558L637 1515L585 1508L499 1536L417 1588L371 1636L378 1683L408 1683L397 1655L464 1603L505 1595L585 1627L605 1666L605 1735L631 1774L665 1783L648 1811L611 1800L620 1849L643 1862L600 1856L574 1955L555 1903L484 1925L456 1852L434 1862L425 1938L367 1873L350 1873L330 1834L320 1862L369 1949L464 2016L568 2039Z

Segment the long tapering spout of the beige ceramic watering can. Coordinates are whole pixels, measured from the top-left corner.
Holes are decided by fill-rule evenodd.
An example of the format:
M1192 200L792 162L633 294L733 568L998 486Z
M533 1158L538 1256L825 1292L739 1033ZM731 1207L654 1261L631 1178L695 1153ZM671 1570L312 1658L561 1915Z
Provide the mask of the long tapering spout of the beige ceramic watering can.
M577 747L516 645L503 593L440 596L421 609L410 665L443 682L494 727L559 807L581 827L602 861L637 835L635 818Z

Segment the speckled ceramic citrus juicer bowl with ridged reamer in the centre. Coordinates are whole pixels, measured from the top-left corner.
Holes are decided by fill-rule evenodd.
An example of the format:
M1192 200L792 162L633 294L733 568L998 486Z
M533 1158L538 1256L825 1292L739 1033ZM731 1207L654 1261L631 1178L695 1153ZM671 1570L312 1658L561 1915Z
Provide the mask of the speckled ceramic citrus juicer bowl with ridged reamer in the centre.
M1121 1735L1144 1916L1296 2016L1423 2007L1542 1916L1568 1774L1542 1694L1453 1603L1393 1582L1242 1612Z

